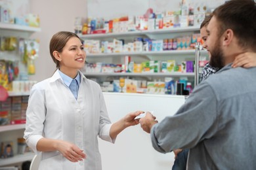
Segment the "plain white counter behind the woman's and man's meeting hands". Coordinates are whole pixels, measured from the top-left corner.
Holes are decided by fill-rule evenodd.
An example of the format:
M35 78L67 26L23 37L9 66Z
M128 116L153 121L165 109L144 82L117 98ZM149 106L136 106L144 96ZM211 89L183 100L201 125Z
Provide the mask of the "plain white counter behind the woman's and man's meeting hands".
M160 122L173 115L185 101L183 95L150 95L138 93L104 93L108 114L116 122L125 114L135 110L154 111ZM128 127L116 139L108 143L99 139L103 170L170 170L173 152L161 154L154 150L150 134L140 125Z

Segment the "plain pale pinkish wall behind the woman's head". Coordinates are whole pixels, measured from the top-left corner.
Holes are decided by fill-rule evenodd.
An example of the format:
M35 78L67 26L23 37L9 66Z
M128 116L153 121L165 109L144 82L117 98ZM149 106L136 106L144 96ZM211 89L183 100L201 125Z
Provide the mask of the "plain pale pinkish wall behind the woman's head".
M41 32L32 38L40 40L39 58L35 60L36 73L31 80L43 80L53 75L56 65L49 54L49 42L58 31L74 32L75 17L87 17L86 0L30 0L30 11L39 14Z

